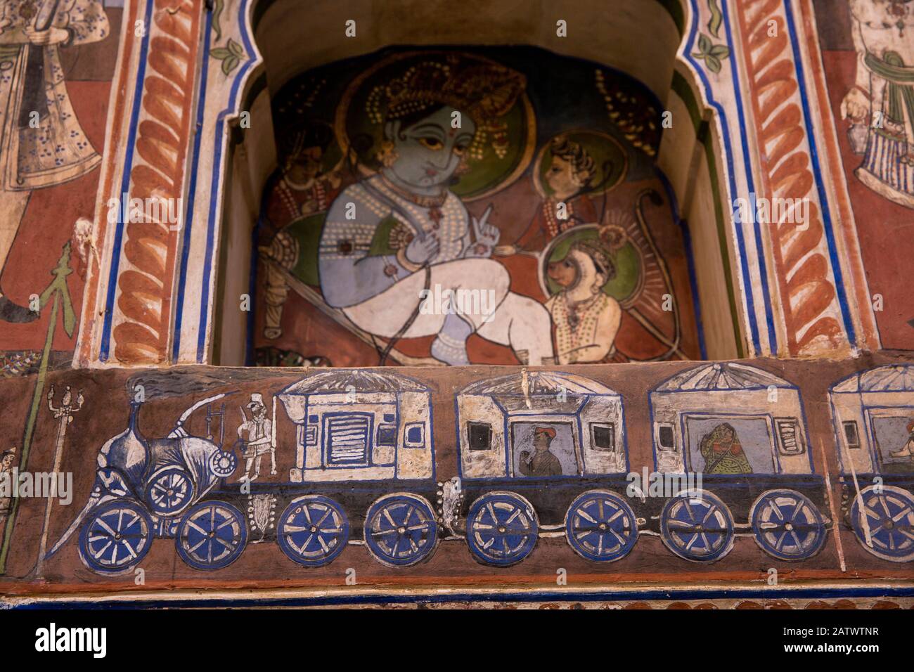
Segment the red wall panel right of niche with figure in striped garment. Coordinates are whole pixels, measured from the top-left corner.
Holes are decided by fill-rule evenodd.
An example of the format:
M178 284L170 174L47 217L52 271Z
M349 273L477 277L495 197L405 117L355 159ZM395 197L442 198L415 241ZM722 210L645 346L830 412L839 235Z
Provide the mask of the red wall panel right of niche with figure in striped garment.
M914 348L914 5L817 3L819 43L883 347ZM878 260L878 261L877 261Z

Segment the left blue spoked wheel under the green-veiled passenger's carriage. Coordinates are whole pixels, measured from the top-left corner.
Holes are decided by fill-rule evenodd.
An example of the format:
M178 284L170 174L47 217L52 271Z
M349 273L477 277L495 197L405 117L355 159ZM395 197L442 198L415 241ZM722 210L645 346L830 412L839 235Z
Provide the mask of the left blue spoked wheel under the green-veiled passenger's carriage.
M733 548L733 516L707 490L685 490L664 505L660 536L666 548L680 558L719 560Z

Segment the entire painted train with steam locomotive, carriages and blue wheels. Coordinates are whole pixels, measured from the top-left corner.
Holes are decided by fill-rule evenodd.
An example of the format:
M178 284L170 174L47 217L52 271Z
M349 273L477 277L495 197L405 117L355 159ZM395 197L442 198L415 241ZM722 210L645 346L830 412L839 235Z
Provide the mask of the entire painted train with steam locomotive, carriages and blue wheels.
M207 571L248 543L275 541L319 567L356 543L409 567L459 541L475 560L507 567L543 537L611 562L653 534L683 560L718 560L738 536L778 560L805 560L834 526L799 389L739 363L689 368L649 392L653 464L630 462L622 397L577 374L524 369L458 390L456 450L441 451L449 464L436 460L436 441L453 435L435 435L430 389L397 373L314 373L277 393L271 415L253 394L248 439L230 448L209 431L218 419L222 432L224 405L211 409L223 396L197 402L164 439L143 437L134 405L48 557L76 537L91 571L116 574L167 538ZM295 465L281 483L247 476L274 458L277 400L295 429ZM207 437L189 435L186 421L204 406ZM845 525L877 557L914 560L914 366L842 380L831 406Z

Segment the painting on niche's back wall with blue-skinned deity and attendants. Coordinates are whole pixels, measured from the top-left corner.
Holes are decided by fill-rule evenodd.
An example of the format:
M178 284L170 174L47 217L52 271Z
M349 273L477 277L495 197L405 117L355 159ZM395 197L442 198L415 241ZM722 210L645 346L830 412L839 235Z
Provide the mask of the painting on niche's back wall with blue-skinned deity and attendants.
M700 357L660 112L537 48L389 49L298 76L273 102L257 359Z

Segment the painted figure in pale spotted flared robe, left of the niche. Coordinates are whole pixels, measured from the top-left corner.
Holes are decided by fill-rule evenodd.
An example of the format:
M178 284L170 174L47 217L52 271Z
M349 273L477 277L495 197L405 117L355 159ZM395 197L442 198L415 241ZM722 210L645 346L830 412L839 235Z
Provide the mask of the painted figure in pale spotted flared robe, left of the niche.
M83 176L101 163L69 101L59 48L108 36L100 0L0 3L0 273L33 189ZM37 313L0 287L0 320Z

